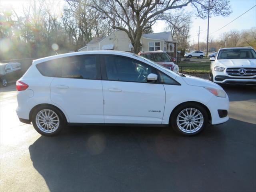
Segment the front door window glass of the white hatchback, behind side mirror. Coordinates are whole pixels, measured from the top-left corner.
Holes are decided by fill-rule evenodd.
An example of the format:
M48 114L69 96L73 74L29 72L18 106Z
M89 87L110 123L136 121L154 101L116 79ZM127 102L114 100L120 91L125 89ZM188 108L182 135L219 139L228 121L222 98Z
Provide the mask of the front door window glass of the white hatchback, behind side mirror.
M147 76L155 73L154 68L119 56L104 56L107 80L147 82Z

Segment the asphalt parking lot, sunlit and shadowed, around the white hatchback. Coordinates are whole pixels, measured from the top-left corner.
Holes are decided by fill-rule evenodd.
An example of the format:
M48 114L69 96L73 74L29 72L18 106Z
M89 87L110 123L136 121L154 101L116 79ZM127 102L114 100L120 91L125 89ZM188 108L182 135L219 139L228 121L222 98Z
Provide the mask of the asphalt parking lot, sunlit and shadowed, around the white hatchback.
M40 136L0 89L0 191L256 191L256 88L224 87L230 120L198 136L168 128L67 127Z

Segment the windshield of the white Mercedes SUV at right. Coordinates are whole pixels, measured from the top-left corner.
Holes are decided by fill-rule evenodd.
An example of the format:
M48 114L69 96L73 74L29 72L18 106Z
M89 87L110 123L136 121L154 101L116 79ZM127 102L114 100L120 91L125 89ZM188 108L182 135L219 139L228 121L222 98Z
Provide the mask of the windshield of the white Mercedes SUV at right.
M256 52L252 49L220 50L218 59L255 59Z

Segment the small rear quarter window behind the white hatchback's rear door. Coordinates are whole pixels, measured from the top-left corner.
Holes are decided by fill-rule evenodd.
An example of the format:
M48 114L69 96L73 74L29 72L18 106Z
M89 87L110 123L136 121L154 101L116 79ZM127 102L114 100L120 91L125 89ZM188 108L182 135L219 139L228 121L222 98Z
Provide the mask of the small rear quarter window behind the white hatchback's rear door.
M54 60L38 63L36 65L36 68L39 70L39 72L43 76L55 77L57 68L58 68L58 64L61 62L62 62L62 59L54 59Z

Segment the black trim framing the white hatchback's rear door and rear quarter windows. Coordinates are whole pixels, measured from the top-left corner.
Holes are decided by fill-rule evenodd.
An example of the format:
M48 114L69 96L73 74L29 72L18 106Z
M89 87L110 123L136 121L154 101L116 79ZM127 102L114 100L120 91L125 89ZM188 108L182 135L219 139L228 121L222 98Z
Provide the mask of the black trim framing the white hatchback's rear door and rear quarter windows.
M43 75L42 72L40 72L40 70L38 69L38 66L37 66L38 64L36 64L36 68L37 68L37 70L40 72L40 74L42 74L42 76L45 76L45 77L66 78L66 79L81 79L81 80L102 80L102 76L101 76L101 72L100 72L100 57L99 57L99 55L100 55L100 54L73 55L73 56L67 56L67 57L61 57L61 58L54 58L54 59L51 59L51 60L47 60L47 61L38 63L38 64L43 64L43 63L50 62L50 61L56 60L56 59L62 60L62 59L65 59L65 58L73 58L73 57L76 57L76 58L77 58L77 57L82 57L82 56L95 56L95 58L96 58L96 76L97 76L96 79L62 77L62 76L60 75L60 64L59 64L59 63L57 64L57 70L56 70L54 76L46 76L46 75ZM98 64L97 64L97 63L98 63Z

